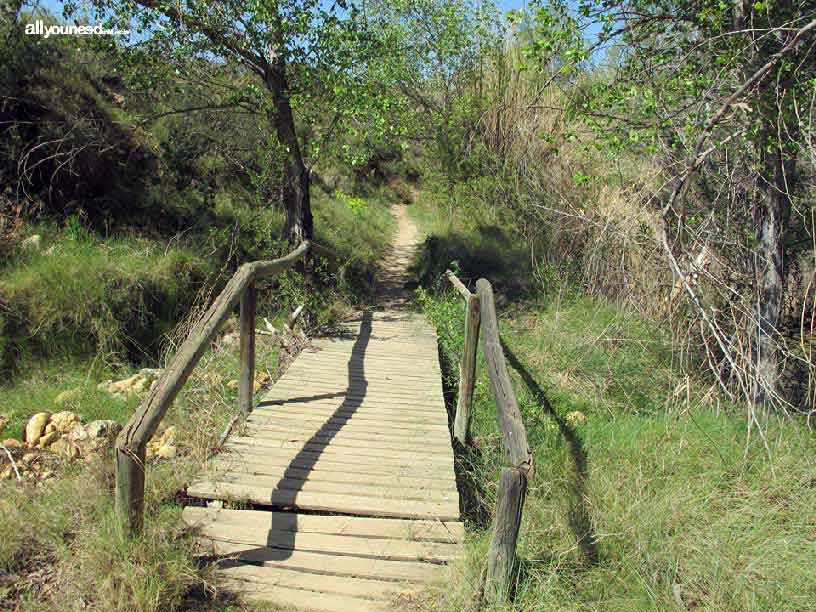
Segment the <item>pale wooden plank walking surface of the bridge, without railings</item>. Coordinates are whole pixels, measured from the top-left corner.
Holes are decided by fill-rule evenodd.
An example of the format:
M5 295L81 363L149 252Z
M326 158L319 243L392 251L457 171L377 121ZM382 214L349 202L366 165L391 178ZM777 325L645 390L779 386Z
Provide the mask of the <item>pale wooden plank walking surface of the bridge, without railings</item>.
M314 341L248 425L188 494L256 509L184 510L231 590L357 612L400 609L444 579L464 530L436 334L424 319L366 312Z

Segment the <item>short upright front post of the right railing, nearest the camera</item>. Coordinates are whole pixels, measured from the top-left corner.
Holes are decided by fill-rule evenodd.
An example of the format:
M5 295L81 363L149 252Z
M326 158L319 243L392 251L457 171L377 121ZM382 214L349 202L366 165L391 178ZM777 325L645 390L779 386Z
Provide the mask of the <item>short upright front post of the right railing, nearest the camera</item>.
M527 474L518 468L502 468L493 520L493 539L487 557L486 592L496 601L507 601L516 572L516 541L521 510L527 496Z

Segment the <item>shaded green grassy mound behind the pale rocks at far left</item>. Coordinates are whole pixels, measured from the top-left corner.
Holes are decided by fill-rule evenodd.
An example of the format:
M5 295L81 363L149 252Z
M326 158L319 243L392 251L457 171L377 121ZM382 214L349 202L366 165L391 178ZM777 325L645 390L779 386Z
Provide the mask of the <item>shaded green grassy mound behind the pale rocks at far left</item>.
M166 333L214 269L178 245L34 227L41 250L0 269L2 365L40 357L155 359ZM33 233L33 231L32 231Z

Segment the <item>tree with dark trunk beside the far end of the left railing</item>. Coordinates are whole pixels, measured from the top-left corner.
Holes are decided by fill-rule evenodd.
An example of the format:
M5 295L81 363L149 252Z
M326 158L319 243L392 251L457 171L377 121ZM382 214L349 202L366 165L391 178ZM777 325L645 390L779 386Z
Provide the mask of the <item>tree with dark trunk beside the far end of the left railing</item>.
M285 236L291 244L310 239L307 153L316 153L355 113L370 114L376 106L366 67L380 41L356 6L344 0L98 0L96 7L111 23L135 26L143 40L134 48L150 46L182 65L190 58L221 62L253 77L244 93L262 106L279 145ZM311 131L300 129L304 117L313 122Z

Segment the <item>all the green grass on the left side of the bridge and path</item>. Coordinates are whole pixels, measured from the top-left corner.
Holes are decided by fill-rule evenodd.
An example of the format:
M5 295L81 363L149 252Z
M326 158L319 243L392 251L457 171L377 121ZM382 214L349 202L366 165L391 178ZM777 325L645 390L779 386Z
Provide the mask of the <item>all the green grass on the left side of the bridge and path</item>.
M308 291L294 273L261 286L259 314L278 329L300 304L309 310L308 324L318 325L365 302L393 229L385 194L317 194L315 217L317 239L343 258L343 274L321 271L320 291ZM267 229L275 231L277 216L266 219ZM98 383L162 365L189 324L188 311L209 303L207 296L232 266L208 257L203 241L27 229L27 235L34 233L41 237L39 248L17 249L0 268L4 313L11 315L4 325L13 331L4 335L4 350L14 357L0 386L0 415L8 420L0 440L20 439L30 415L42 411L69 408L85 422L124 423L139 398L114 397ZM284 250L281 244L258 256ZM155 349L146 349L147 341ZM272 380L279 374L280 350L258 337L258 370ZM210 569L192 554L179 492L235 414L237 375L237 343L215 343L168 413L178 455L152 460L147 470L143 538L128 542L115 530L108 456L67 462L41 453L35 462L50 478L0 482L0 608L230 609L234 604L210 581ZM77 390L71 404L57 406L56 397L69 389Z

